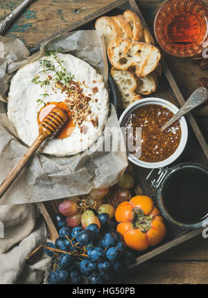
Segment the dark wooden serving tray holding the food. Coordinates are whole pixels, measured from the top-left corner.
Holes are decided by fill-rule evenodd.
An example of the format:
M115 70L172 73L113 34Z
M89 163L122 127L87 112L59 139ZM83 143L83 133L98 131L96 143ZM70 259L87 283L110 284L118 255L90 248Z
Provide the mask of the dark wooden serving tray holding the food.
M139 15L141 22L146 27L148 27L146 25L144 17L141 15L141 12L135 0L117 0L111 3L109 6L106 6L105 8L102 8L101 10L94 12L92 15L88 15L87 17L74 22L67 28L64 28L62 31L58 32L58 34L62 32L69 32L71 30L77 30L80 28L94 28L94 21L101 15L117 15L119 13L122 13L122 10L126 9L134 10L137 13L137 15ZM54 37L55 35L51 37ZM46 39L44 41L46 41ZM169 100L170 102L173 102L173 104L175 104L176 106L180 107L184 103L184 98L182 97L182 94L180 93L180 90L178 89L177 84L175 83L175 80L173 79L173 76L171 74L171 71L169 70L163 57L161 59L161 64L163 68L163 75L159 78L159 87L157 91L152 95L155 97L161 97L166 100ZM191 113L187 115L187 120L189 125L189 138L187 142L187 147L184 150L184 153L182 153L182 156L180 156L180 158L178 158L173 165L178 164L180 162L199 162L203 165L208 165L208 147L205 138L202 136L202 133L198 128L198 125L196 124L196 121ZM150 183L146 181L146 176L148 175L149 171L149 169L135 167L136 181L143 190L144 194L151 196L152 198L156 198L155 189L150 185ZM137 194L137 187L135 187L134 192L135 194ZM114 204L114 201L112 201L111 191L109 196L107 196L107 200L110 201L110 203ZM62 200L38 203L40 211L42 212L44 219L46 220L46 223L49 227L51 240L54 240L58 237L58 231L56 230L55 225L53 224L53 216L58 210L58 204L60 203L60 201ZM156 247L150 248L145 252L137 252L137 259L135 263L128 266L128 268L135 267L139 263L151 259L157 256L158 254L165 252L166 250L173 248L176 245L184 241L187 241L198 234L201 234L202 232L202 228L191 231L184 230L180 227L175 227L167 222L166 227L167 232L165 239L162 241L162 243L159 243L159 245L157 245Z

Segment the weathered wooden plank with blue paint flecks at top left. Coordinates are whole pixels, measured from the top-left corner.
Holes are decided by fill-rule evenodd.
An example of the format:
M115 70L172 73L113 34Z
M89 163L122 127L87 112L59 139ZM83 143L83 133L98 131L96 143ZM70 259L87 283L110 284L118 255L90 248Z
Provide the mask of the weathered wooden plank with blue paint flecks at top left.
M19 37L26 44L38 41L58 32L88 15L111 4L112 0L68 1L36 0L24 10L6 32L7 36ZM21 0L0 1L0 18L5 17Z

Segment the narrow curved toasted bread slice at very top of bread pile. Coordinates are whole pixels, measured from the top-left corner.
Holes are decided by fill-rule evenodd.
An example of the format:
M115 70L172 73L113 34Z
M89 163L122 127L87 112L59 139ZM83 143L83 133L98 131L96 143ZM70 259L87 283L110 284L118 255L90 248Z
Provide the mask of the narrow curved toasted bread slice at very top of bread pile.
M132 30L132 40L139 41L142 36L142 26L138 15L132 10L125 10L125 12L123 12L123 17Z

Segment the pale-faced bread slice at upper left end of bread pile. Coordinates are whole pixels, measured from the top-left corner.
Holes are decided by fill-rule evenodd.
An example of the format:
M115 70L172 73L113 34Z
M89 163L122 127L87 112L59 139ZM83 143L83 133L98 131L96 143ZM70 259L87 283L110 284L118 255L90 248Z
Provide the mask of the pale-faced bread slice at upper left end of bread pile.
M95 28L103 34L106 48L112 39L122 36L121 28L111 17L100 17L97 19Z

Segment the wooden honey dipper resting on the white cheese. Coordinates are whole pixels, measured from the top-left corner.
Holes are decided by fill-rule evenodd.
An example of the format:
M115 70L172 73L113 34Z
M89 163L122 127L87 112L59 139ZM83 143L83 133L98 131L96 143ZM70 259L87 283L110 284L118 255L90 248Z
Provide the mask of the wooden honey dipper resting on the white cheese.
M64 127L64 124L66 124L66 122L67 113L65 113L61 109L55 108L49 113L49 115L46 116L44 121L40 124L39 136L33 142L31 147L28 148L28 151L26 151L19 162L17 162L17 165L13 167L13 169L10 171L10 174L8 174L8 176L6 176L6 178L1 183L0 198L3 196L3 194L5 194L15 178L17 178L18 174L26 165L26 162L28 162L29 158L31 158L33 153L35 153L35 151L40 147L42 142L46 140L46 138L55 136L55 134L58 133L58 131L60 131L62 127Z

